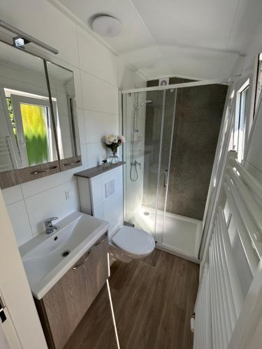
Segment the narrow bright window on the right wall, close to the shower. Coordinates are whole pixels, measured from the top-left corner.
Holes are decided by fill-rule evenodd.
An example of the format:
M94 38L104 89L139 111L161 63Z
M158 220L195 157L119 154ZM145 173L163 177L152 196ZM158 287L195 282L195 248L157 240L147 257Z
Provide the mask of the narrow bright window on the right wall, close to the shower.
M229 149L238 153L238 161L244 158L245 149L245 128L247 120L247 96L249 94L249 80L242 85L236 96L235 122L231 135Z

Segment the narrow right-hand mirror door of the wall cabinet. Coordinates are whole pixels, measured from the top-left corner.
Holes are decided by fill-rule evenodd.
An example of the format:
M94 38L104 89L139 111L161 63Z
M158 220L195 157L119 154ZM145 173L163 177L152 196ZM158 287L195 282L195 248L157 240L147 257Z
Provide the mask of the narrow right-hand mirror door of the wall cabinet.
M61 159L80 155L73 72L47 62L57 143Z

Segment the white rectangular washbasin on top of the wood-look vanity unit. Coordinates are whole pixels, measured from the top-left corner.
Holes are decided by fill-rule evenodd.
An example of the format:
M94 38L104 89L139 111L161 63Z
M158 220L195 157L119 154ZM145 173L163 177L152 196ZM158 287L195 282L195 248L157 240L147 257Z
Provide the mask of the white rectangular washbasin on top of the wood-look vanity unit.
M20 246L20 254L34 297L41 299L75 262L99 239L108 222L73 212L58 222L59 229L45 232Z

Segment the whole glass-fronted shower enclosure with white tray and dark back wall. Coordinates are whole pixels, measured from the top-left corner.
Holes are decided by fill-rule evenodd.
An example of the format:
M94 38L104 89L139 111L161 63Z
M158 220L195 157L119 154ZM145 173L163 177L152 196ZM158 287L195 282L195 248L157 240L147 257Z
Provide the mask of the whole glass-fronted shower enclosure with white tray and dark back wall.
M124 221L196 260L227 85L172 79L122 91Z

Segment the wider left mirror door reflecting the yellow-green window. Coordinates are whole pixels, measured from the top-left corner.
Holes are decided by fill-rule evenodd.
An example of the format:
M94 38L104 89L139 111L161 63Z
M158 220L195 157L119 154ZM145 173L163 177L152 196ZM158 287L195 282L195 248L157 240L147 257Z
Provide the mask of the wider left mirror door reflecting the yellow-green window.
M43 59L0 43L0 172L57 161Z

